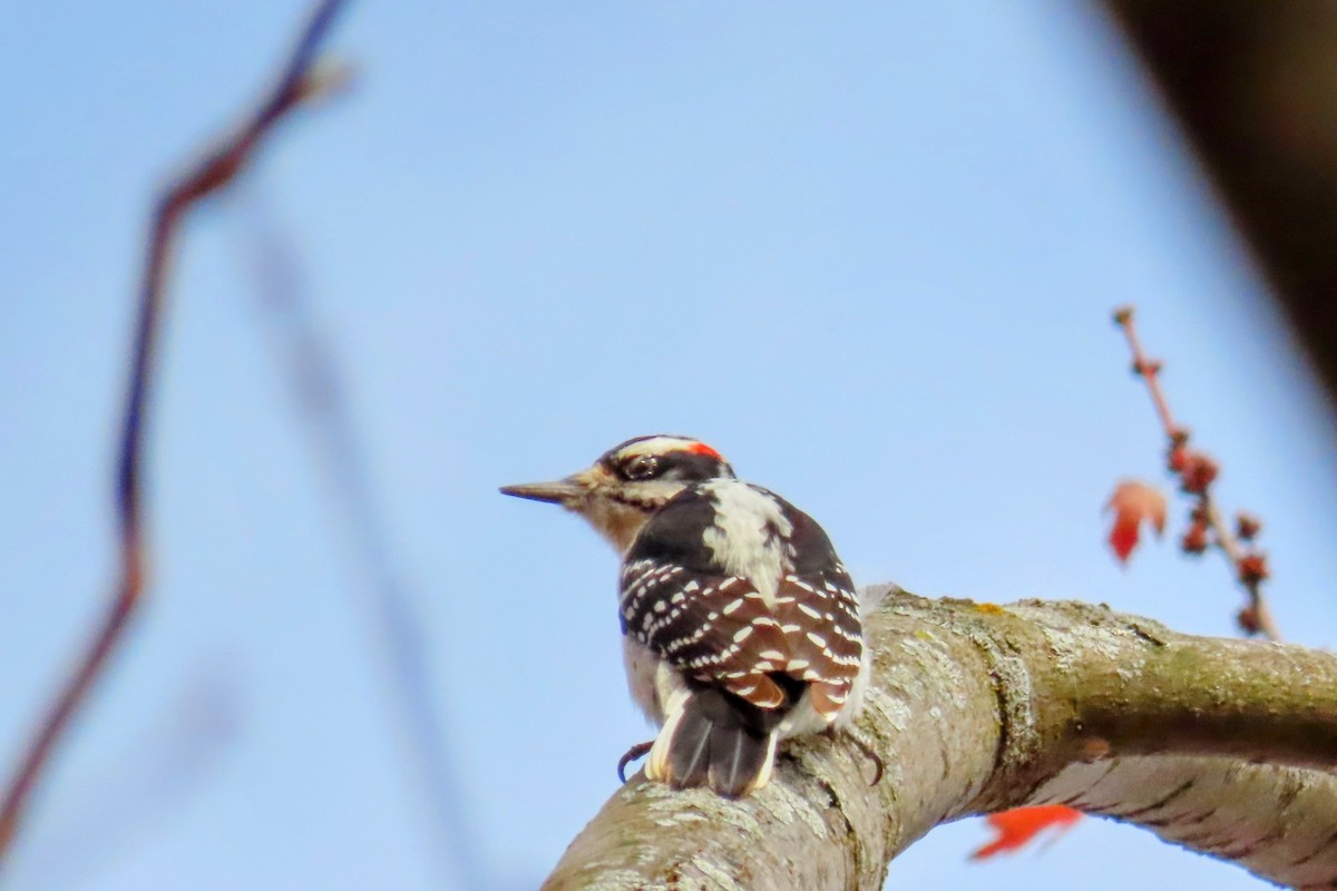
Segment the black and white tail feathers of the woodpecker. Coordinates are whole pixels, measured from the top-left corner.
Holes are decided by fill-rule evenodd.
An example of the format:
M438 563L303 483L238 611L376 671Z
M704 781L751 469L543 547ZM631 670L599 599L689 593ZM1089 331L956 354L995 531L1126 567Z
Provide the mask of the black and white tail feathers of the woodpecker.
M646 776L674 788L710 785L742 797L770 780L779 716L715 688L683 689L646 760Z

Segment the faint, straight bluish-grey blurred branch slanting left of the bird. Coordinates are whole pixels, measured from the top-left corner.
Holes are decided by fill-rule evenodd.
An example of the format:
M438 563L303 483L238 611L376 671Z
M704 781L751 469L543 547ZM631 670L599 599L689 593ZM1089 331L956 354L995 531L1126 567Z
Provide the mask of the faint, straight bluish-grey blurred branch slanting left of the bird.
M338 355L321 335L295 247L283 238L261 202L250 196L246 210L253 235L246 247L261 309L298 413L333 490L353 561L365 578L356 586L361 594L360 606L369 616L377 656L390 687L392 708L406 732L416 785L425 793L432 811L432 852L455 872L457 882L448 883L449 887L493 887L479 860L477 834L463 810L464 793L448 756L452 749L449 721L432 695L424 622L400 581L385 526L376 510Z

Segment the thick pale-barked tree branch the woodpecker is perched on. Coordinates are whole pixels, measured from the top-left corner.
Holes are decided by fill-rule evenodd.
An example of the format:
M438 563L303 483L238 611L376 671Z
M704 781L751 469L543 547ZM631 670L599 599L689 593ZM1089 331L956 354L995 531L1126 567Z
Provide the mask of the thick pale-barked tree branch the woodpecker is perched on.
M638 777L545 887L876 890L940 823L1055 801L1274 882L1337 879L1337 657L1103 606L904 592L869 631L860 731L886 763L878 785L857 745L825 737L786 748L742 801Z

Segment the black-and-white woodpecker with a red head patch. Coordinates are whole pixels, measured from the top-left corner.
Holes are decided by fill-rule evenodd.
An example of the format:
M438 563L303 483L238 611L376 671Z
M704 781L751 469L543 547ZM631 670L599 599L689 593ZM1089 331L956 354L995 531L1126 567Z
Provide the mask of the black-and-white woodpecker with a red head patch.
M861 708L858 596L830 540L705 442L636 437L564 480L501 492L580 514L622 556L627 683L660 728L628 751L648 747L648 779L741 797L770 780L779 740Z

